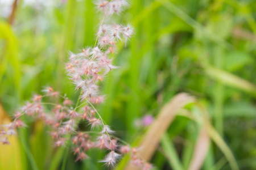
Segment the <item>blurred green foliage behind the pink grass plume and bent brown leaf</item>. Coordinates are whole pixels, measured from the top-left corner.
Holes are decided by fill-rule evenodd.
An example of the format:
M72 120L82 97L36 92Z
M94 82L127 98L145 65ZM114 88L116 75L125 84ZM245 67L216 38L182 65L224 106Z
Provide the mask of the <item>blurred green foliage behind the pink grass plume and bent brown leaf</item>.
M117 137L136 145L148 129L138 126L143 116L156 117L180 92L197 100L151 146L155 169L188 169L195 158L203 159L200 169L256 169L255 11L253 0L134 0L114 16L136 28L128 45L118 45L119 69L102 86L99 112ZM94 44L101 18L91 0L0 0L1 124L45 86L77 100L64 63L69 50ZM13 145L0 147L0 169L60 169L63 149L52 146L42 122L25 121ZM205 124L213 127L206 155L195 149ZM108 169L98 163L104 152L88 155L75 163L69 154L66 169Z

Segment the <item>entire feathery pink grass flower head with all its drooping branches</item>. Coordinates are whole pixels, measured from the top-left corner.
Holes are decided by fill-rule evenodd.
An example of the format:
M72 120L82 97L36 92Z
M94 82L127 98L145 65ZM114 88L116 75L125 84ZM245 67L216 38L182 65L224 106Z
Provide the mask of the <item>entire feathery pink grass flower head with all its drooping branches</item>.
M125 0L100 0L96 5L103 11L105 18L114 13L119 14L129 3ZM109 151L101 160L106 165L114 165L121 158L121 154L130 153L131 161L135 165L145 170L151 169L152 166L139 157L137 148L131 148L127 143L125 146L118 145L118 139L112 135L114 131L105 124L95 108L105 100L105 96L100 95L100 82L105 79L109 71L117 69L109 54L115 52L115 44L118 41L126 42L133 32L130 24L105 24L103 19L96 35L95 45L82 49L80 53L69 54L69 61L66 64L67 74L75 84L76 90L81 91L76 107L72 107L73 102L67 96L61 96L52 87L46 87L43 90L44 95L34 95L30 102L15 113L13 122L1 126L1 142L9 144L8 137L16 134L15 128L26 126L20 119L22 115L26 115L43 120L46 125L52 127L50 134L55 140L56 147L67 145L68 141L71 141L76 161L88 158L86 151L97 147ZM57 102L46 103L53 97ZM82 104L79 105L80 100ZM101 128L100 132L79 131L78 124L82 121L87 122L91 129ZM97 134L96 138L90 135L92 132Z

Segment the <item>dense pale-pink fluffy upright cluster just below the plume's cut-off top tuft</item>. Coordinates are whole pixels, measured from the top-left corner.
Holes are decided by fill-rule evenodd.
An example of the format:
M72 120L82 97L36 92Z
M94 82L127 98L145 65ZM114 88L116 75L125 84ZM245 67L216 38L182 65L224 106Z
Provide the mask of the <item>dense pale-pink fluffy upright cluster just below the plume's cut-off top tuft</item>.
M130 25L105 25L101 24L97 33L98 46L85 48L81 53L70 53L69 62L66 64L68 75L73 80L76 90L81 88L82 100L89 100L99 104L104 101L104 96L99 95L98 82L104 80L106 74L117 66L112 64L115 43L122 39L129 39L133 33Z

